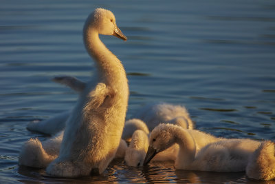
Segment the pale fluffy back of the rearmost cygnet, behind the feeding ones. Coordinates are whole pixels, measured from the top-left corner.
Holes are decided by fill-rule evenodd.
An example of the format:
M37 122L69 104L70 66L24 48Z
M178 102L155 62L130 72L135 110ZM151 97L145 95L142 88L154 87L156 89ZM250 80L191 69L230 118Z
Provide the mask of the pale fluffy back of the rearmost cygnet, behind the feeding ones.
M140 110L137 110L133 118L146 122L150 131L159 123L173 123L186 129L195 129L195 123L190 119L186 108L181 105L172 105L169 103L147 104L140 108Z

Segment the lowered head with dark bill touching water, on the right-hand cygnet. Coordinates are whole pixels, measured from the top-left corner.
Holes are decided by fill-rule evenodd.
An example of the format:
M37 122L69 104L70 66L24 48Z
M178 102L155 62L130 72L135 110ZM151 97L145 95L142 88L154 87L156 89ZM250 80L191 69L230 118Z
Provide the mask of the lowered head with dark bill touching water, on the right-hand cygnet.
M143 165L147 165L157 153L166 150L175 143L175 136L171 132L175 126L177 125L161 123L152 130Z

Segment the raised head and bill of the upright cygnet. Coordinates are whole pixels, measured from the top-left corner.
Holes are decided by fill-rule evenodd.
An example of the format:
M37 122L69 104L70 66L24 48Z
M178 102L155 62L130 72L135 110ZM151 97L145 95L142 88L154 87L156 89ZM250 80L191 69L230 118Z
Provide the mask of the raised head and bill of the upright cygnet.
M98 34L113 35L126 41L126 37L115 23L115 16L109 10L96 8L87 18L84 26L84 32L94 30Z

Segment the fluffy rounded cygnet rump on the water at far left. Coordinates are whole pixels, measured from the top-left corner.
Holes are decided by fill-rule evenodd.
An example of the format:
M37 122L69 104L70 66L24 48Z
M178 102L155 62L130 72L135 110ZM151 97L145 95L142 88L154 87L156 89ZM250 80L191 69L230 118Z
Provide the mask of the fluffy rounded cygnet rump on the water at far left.
M39 139L30 139L21 149L19 154L19 165L45 168L54 159L56 159L56 156L50 156L47 154Z

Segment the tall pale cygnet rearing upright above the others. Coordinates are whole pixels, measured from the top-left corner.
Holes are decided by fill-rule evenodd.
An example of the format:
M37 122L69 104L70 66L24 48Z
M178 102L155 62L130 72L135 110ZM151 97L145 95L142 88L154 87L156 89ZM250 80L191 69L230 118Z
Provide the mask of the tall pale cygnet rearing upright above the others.
M112 12L97 8L89 15L83 38L96 63L97 76L85 85L66 122L58 158L46 169L52 176L101 174L120 144L129 87L122 63L100 41L98 34L126 40Z

